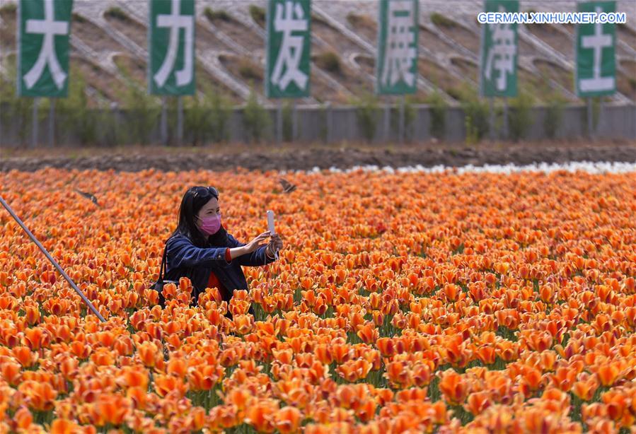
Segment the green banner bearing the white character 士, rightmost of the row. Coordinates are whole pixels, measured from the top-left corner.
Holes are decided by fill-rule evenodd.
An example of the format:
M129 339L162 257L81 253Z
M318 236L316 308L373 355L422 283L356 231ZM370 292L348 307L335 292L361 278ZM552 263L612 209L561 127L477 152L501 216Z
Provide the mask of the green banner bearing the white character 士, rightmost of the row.
M579 12L615 12L615 1L579 3ZM577 71L574 88L580 97L611 95L616 91L615 24L577 24Z

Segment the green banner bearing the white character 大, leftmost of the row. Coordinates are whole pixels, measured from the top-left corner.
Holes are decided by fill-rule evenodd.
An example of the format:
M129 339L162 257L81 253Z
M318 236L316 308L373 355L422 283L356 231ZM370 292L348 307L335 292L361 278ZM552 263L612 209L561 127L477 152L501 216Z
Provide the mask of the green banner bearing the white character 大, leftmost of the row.
M69 94L69 36L73 0L18 2L18 95Z

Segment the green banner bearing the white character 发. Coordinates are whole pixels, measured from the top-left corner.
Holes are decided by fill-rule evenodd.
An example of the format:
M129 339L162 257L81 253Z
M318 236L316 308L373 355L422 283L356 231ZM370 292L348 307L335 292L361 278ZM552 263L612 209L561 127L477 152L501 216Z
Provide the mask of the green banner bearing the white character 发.
M267 98L309 96L311 0L267 1Z

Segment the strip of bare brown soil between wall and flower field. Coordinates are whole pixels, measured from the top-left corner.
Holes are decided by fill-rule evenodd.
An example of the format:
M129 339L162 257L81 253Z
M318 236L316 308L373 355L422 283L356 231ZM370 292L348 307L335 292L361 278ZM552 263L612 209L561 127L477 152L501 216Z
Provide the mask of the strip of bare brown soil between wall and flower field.
M151 151L152 152L149 152ZM156 152L155 152L156 151ZM505 146L468 146L448 148L422 145L414 147L376 148L288 148L279 150L227 151L199 148L196 151L180 148L121 149L100 155L54 155L0 157L0 171L21 170L31 172L46 167L62 169L97 169L136 172L155 168L162 171L182 170L312 170L314 167L347 169L356 165L377 165L400 168L422 165L433 167L464 165L528 165L532 163L636 162L636 142L595 143L572 146L515 144Z

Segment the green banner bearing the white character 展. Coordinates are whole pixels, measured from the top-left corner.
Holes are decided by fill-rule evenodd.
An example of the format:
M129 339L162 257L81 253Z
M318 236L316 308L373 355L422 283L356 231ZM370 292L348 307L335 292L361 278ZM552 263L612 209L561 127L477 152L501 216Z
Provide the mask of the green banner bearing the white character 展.
M417 0L380 0L376 93L403 95L417 91Z

